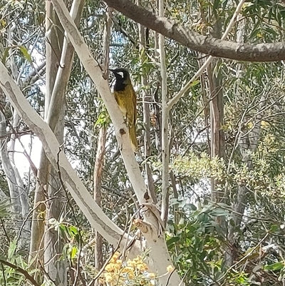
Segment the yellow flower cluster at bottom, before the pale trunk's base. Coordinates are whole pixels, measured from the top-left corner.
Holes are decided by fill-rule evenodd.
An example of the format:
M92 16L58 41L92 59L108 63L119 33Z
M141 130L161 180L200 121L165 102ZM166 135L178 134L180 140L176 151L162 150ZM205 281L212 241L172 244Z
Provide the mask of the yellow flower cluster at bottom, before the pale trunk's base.
M138 256L133 260L123 262L120 253L115 252L106 265L103 274L100 276L101 282L108 286L125 285L156 285L155 273L147 272L147 265L142 257Z

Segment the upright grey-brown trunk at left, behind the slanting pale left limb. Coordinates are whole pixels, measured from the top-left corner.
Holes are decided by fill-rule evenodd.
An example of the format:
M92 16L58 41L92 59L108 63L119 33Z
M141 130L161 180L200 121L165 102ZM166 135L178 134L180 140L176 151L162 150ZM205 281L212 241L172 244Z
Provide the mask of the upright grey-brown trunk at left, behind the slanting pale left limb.
M56 16L56 11L53 9L51 2L46 2L46 97L45 97L45 118L47 118L48 111L51 108L58 109L58 116L56 116L56 126L53 131L56 135L59 144L63 144L63 128L64 128L64 115L65 107L51 106L51 97L53 88L55 88L56 75L58 73L59 61L61 58L62 46L63 46L63 33L62 27ZM65 97L64 93L57 96ZM46 157L43 154L43 157ZM58 231L54 229L54 225L51 225L49 221L51 219L59 220L61 215L64 215L63 210L63 198L65 194L61 181L58 178L57 171L51 166L51 164L42 158L46 163L43 166L44 170L47 170L46 174L46 225L44 233L44 252L43 261L45 271L48 274L47 280L53 280L56 285L66 285L66 262L65 260L59 260L62 255L63 241L58 236ZM40 170L41 172L41 170Z

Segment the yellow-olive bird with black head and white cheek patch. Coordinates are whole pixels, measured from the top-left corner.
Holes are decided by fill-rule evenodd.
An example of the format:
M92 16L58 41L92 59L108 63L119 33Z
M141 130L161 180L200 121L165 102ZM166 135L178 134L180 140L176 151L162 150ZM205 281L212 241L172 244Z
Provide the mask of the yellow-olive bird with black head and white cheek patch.
M130 143L133 151L138 151L137 134L135 131L135 122L137 120L137 96L130 81L130 73L126 68L109 69L115 76L114 96L120 111L126 118L128 130L130 133Z

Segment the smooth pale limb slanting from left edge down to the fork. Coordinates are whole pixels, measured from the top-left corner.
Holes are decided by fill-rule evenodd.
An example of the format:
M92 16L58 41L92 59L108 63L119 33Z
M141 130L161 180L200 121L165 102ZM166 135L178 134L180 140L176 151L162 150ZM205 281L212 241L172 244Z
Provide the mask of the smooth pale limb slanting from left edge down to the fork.
M31 105L26 101L19 86L9 76L9 73L3 63L0 63L0 86L3 89L9 101L16 109L17 113L23 118L29 128L38 136L46 151L48 160L50 160L53 168L56 168L68 185L68 190L76 200L79 208L83 211L90 224L98 230L108 242L113 245L118 243L123 230L120 230L98 207L88 190L85 188L80 178L73 170L68 162L66 155L60 150L60 145L56 140L56 136L46 122L36 113ZM125 240L123 240L125 242Z

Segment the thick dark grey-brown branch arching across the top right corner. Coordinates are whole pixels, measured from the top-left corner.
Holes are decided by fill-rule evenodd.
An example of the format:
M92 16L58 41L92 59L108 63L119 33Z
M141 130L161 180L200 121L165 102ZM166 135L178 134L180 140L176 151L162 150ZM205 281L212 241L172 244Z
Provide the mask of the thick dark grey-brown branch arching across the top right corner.
M159 17L129 0L104 0L108 6L120 11L133 21L173 39L187 48L219 58L237 61L281 61L285 59L285 43L242 44L202 36L195 31Z

